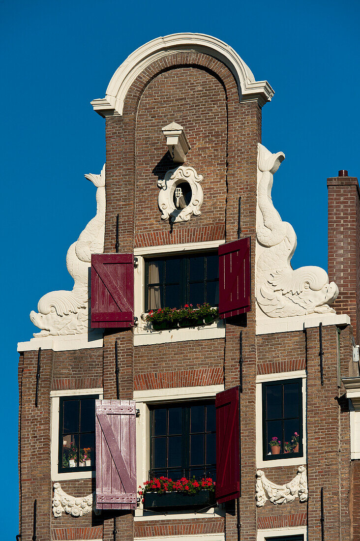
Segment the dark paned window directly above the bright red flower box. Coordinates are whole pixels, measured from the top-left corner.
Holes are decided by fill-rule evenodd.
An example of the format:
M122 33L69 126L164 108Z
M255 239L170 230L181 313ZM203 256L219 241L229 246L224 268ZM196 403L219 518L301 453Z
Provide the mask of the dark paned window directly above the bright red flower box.
M150 478L216 476L215 404L155 407L150 411Z

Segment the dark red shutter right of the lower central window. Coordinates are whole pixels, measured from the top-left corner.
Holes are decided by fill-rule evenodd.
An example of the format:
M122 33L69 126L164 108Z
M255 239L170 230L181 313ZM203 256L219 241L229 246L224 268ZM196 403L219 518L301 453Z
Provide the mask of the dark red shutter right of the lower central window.
M218 393L216 408L216 499L240 497L239 387Z

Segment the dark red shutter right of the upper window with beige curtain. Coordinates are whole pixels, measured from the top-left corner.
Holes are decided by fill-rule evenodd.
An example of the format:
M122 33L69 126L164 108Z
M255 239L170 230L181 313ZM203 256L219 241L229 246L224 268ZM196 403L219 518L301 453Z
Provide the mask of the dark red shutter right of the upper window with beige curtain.
M250 237L219 246L220 318L251 309Z

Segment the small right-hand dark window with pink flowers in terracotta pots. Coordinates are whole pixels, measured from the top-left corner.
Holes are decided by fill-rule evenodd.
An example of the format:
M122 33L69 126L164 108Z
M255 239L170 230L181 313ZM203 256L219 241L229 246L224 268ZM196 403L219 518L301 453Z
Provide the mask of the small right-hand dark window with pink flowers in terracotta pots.
M263 383L262 403L263 460L302 457L302 379Z

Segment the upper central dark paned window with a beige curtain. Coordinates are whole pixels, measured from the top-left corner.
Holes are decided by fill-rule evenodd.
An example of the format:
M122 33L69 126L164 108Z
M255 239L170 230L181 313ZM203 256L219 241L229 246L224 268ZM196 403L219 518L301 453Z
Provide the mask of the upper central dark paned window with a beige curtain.
M208 302L219 305L219 256L174 256L147 259L145 263L145 311L180 308Z

